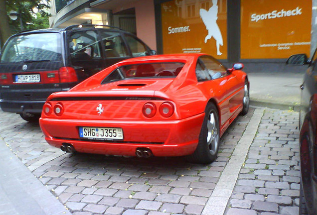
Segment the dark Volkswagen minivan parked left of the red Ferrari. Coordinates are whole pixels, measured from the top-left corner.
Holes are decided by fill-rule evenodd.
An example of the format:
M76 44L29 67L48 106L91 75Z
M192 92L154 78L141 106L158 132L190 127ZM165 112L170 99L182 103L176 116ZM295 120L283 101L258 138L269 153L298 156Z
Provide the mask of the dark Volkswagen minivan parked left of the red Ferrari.
M143 41L104 25L20 32L5 43L0 58L0 107L37 120L46 98L68 91L91 75L127 58L154 55Z

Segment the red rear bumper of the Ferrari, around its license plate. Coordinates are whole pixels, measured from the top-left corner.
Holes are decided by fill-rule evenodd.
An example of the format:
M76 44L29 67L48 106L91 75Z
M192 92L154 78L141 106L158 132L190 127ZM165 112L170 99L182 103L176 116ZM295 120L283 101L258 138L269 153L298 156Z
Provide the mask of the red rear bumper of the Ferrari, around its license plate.
M135 156L136 149L142 147L151 149L154 156L182 156L195 151L203 118L204 113L181 120L165 121L69 120L41 117L39 122L45 140L58 148L63 143L70 143L78 152ZM80 139L79 126L120 127L123 129L124 139Z

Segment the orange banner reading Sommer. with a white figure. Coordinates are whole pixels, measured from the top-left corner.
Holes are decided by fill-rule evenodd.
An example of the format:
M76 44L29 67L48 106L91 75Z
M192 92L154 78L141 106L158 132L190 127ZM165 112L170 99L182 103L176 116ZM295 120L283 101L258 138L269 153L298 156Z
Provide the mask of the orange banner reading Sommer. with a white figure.
M227 1L161 3L163 53L207 53L227 58Z

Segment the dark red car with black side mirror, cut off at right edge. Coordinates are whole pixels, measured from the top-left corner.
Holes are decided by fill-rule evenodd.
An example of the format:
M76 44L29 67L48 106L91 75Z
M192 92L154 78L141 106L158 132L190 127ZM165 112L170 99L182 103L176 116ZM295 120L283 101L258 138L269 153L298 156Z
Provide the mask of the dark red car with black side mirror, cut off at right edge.
M300 215L317 215L317 53L315 51L312 60L305 54L292 55L287 64L309 65L301 85Z

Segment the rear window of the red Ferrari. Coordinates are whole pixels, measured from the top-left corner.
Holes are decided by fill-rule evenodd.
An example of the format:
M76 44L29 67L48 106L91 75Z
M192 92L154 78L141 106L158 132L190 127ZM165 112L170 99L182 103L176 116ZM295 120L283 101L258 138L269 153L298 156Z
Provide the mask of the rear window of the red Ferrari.
M101 84L123 79L176 77L184 63L133 64L119 67L110 73Z

